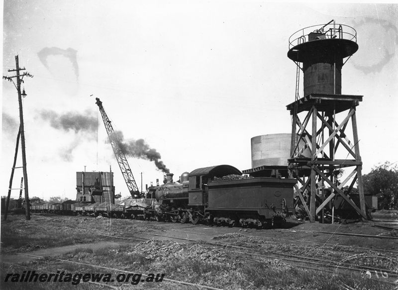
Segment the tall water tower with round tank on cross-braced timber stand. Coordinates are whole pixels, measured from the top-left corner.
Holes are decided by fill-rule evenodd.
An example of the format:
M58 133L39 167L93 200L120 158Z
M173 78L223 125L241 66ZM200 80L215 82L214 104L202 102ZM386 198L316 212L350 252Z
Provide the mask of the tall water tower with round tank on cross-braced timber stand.
M287 109L293 120L292 136L299 136L298 140L292 138L289 175L298 179L298 202L311 221L337 195L359 216L368 218L356 121L356 107L363 96L341 94L341 69L358 50L356 40L354 28L336 24L334 20L300 29L289 38L288 57L296 63L297 71L295 101ZM301 73L303 95L299 96ZM349 134L346 128L350 120ZM300 149L298 144L302 141L305 146ZM310 158L302 154L307 148ZM339 182L337 173L347 167L351 168L345 171L348 176ZM298 174L304 168L310 170L307 177ZM356 182L358 204L350 197Z

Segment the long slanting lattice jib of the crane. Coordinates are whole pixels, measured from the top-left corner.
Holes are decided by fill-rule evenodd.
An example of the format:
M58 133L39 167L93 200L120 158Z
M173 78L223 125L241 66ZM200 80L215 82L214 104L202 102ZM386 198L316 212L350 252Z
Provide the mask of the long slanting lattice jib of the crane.
M134 198L134 195L139 194L139 190L137 184L135 183L135 179L131 172L130 166L128 165L126 156L121 148L121 140L118 134L114 133L113 127L110 123L108 116L103 109L102 102L98 97L96 97L96 104L100 108L103 124L105 125L106 133L108 134L110 145L112 145L113 153L115 154L117 163L119 164L121 174L123 175L124 181L127 185L128 191L131 196Z

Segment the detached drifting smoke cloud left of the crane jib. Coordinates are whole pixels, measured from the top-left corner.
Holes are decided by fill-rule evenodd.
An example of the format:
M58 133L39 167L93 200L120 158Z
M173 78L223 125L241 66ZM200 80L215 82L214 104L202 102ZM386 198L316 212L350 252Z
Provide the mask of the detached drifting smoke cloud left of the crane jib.
M58 114L53 110L41 110L40 117L50 122L51 127L65 131L74 130L95 132L97 131L97 117L94 112L86 110L84 114L78 112L67 112Z

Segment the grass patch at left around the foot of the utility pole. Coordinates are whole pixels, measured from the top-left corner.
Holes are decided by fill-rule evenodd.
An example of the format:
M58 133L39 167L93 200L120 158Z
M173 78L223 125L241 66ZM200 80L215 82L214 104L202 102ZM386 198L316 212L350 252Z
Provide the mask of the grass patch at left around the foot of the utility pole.
M161 230L162 227L132 222L131 220L98 220L85 216L8 215L1 221L1 253L28 252L43 248L92 243L103 235L121 235L127 232Z

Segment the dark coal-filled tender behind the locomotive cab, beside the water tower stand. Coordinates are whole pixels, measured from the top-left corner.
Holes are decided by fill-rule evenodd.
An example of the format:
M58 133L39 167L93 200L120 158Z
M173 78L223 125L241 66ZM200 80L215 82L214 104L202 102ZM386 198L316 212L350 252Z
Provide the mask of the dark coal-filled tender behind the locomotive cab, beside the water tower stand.
M294 214L294 184L295 179L267 177L211 181L207 184L206 211L217 224L281 224Z

